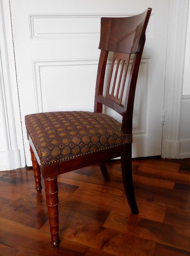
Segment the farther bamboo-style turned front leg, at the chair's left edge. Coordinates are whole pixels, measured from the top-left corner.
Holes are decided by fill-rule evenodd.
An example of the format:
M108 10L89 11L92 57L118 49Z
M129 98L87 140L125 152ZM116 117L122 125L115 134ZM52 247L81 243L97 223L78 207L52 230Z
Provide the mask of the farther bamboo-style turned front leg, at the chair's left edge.
M30 153L31 153L31 160L32 160L32 168L34 171L34 178L36 183L36 190L38 193L41 193L41 172L40 172L40 166L36 160L34 151L32 150L32 147L30 146Z

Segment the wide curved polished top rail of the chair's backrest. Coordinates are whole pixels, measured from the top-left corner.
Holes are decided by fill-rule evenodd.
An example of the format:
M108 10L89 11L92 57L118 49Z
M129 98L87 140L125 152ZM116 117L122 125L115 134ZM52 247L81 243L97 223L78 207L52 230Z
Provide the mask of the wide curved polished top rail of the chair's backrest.
M99 49L137 53L149 21L151 8L131 17L102 17Z

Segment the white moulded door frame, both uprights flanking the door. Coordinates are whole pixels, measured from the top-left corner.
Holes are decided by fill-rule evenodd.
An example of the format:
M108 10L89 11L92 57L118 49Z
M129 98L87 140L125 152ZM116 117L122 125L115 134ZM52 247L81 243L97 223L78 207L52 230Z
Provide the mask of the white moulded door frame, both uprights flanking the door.
M179 131L188 4L189 0L169 1L168 47L164 93L165 123L162 134L162 157L167 158L179 158ZM0 70L1 77L3 77L2 88L4 90L4 93L3 95L0 95L0 98L3 99L3 114L5 116L5 121L2 126L4 136L7 137L5 145L6 150L11 152L7 155L5 165L9 166L8 168L16 169L21 166L24 167L26 161L16 80L9 0L0 0L0 14L2 17L0 37L3 38L3 40L0 40L0 62L3 67ZM12 97L12 95L14 95L14 97ZM0 152L0 154L1 153L2 152ZM1 165L2 163L0 162L0 166Z

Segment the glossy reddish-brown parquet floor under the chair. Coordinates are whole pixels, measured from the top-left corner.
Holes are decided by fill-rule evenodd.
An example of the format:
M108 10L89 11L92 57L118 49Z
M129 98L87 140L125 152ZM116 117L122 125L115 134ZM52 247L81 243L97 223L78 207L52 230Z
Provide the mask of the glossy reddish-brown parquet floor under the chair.
M133 159L139 215L127 204L119 160L60 175L59 249L31 168L0 172L0 255L190 255L190 159Z

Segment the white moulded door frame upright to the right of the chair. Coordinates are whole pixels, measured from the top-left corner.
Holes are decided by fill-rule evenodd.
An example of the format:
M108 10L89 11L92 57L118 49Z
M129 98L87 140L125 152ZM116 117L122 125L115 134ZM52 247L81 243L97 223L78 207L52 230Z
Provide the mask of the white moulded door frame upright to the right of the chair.
M169 5L169 47L167 47L164 97L166 111L162 137L162 157L166 158L179 158L180 152L179 134L188 4L187 0L175 0Z

